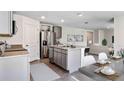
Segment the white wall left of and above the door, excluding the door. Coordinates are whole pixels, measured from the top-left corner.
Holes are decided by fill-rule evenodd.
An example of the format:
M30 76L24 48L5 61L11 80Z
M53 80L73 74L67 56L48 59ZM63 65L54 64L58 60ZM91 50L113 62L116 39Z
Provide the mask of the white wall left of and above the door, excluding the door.
M16 21L16 26L18 28L18 31L15 35L13 35L12 37L0 37L0 40L6 40L8 44L24 44L25 40L24 40L24 22L27 20L30 20L30 22L33 24L36 24L36 26L38 25L38 21L22 16L22 15L14 15L14 20ZM29 35L32 35L31 33L29 33ZM37 35L39 36L39 35Z

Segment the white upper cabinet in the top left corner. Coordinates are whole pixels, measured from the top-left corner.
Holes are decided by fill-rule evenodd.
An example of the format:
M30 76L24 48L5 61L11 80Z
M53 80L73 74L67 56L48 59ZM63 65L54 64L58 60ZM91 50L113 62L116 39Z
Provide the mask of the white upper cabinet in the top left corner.
M11 35L12 12L0 11L0 35Z

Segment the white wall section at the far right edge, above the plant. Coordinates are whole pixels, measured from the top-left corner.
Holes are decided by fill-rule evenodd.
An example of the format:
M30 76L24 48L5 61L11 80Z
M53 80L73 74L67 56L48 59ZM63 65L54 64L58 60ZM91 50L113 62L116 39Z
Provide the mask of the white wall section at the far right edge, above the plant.
M124 48L124 16L114 18L114 49L119 51Z

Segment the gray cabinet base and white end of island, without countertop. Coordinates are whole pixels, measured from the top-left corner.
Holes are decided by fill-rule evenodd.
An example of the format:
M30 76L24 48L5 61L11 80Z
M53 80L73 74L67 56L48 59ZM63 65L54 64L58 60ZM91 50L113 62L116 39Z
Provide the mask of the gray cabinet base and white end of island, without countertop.
M81 50L54 48L54 63L69 73L78 71L81 66Z

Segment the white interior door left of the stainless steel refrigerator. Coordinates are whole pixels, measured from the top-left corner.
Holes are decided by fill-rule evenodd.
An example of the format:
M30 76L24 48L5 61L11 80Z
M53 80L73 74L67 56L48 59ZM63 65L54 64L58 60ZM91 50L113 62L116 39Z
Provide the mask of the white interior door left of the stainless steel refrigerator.
M24 23L24 47L30 53L30 61L39 58L39 32L37 30L37 25Z

